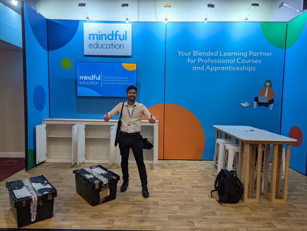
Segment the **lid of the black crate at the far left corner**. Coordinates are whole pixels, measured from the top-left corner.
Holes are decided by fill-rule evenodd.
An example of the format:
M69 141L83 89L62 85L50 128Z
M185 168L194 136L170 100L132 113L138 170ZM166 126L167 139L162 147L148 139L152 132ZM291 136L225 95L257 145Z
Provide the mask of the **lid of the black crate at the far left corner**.
M27 179L25 179L27 180ZM51 183L43 176L34 176L29 178L37 198L47 197L49 194L54 194L56 197L56 189ZM32 196L25 187L24 180L15 180L11 182L6 182L6 187L12 198L16 202L21 202L25 200L32 200Z

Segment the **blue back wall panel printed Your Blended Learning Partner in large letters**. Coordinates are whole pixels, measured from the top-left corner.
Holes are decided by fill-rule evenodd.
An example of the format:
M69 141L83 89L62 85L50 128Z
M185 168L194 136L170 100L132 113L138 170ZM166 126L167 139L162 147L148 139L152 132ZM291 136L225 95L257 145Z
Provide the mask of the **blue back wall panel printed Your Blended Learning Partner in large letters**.
M165 159L212 160L213 125L279 133L286 23L169 22L166 31ZM254 108L266 80L274 103Z

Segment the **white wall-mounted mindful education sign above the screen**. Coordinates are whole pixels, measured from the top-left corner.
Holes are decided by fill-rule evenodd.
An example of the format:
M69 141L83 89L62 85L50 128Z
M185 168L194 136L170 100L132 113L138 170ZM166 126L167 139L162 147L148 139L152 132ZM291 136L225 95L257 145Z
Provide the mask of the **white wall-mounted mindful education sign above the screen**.
M84 55L131 56L132 25L84 23Z

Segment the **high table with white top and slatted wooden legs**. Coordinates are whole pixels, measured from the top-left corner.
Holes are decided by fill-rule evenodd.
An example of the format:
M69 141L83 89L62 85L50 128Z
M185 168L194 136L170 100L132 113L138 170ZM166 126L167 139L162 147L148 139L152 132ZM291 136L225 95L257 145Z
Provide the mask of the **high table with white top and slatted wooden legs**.
M260 200L261 164L257 164L255 193L255 168L250 168L250 164L251 166L255 166L256 147L258 147L258 159L261 160L262 146L266 144L266 154L268 154L270 153L270 144L273 144L270 187L267 183L269 177L270 155L266 155L266 160L264 160L265 164L263 166L263 172L265 184L263 195L272 203L286 203L289 178L290 147L291 144L297 140L250 126L213 125L213 127L216 129L216 139L222 138L222 133L224 133L225 139L234 137L237 141L239 141L240 153L238 175L239 179L244 185L244 193L242 197L244 202L259 202ZM285 175L283 188L281 190L283 144L286 144L286 163L283 163L285 164ZM258 161L258 163L259 162L261 163L261 161Z

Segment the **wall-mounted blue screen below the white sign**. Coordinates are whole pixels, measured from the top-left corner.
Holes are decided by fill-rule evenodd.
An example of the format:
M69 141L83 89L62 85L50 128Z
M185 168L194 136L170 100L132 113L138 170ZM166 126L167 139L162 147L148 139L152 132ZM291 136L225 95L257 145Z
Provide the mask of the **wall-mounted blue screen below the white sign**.
M126 97L136 86L136 64L77 62L77 95Z

